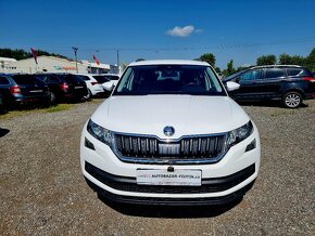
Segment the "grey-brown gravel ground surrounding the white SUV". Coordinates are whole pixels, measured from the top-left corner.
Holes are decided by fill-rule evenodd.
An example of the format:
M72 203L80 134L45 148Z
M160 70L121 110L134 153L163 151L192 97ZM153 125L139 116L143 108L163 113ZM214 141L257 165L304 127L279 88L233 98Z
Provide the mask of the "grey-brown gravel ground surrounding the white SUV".
M315 101L243 106L261 132L261 171L225 208L100 200L79 168L81 127L99 103L0 119L0 235L315 235Z

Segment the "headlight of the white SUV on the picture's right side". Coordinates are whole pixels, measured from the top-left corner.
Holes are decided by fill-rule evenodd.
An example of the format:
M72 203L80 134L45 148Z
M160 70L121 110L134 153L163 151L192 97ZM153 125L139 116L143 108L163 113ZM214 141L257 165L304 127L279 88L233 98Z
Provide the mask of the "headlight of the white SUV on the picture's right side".
M247 139L249 135L252 134L252 132L253 132L253 123L251 121L249 121L248 123L238 129L228 132L226 141L227 149Z

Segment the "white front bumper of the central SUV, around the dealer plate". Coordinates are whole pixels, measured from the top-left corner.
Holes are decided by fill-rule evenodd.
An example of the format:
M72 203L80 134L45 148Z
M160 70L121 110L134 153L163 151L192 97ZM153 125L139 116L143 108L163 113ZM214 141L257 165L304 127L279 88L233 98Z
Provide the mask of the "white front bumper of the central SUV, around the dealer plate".
M86 139L94 149L85 145ZM255 140L256 147L245 152ZM84 176L98 193L116 201L165 205L217 205L226 204L244 194L257 176L260 169L260 137L253 133L232 146L223 159L210 165L175 165L175 169L202 171L201 186L138 185L137 169L167 169L169 165L141 165L121 161L112 149L92 137L86 126L80 144L80 165Z

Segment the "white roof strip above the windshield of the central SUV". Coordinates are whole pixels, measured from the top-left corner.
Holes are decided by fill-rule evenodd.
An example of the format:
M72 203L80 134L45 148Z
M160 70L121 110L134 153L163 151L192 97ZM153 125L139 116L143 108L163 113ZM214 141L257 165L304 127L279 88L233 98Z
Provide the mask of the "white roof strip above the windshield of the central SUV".
M197 65L210 66L206 62L190 60L149 60L130 63L129 66L148 66L148 65Z

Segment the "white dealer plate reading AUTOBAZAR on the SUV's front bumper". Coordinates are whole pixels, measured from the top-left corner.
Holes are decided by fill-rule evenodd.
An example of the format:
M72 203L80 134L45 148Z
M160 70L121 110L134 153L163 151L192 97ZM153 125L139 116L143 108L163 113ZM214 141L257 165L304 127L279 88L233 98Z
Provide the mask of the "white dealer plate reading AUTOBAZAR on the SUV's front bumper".
M137 170L137 183L142 185L200 186L201 170Z

